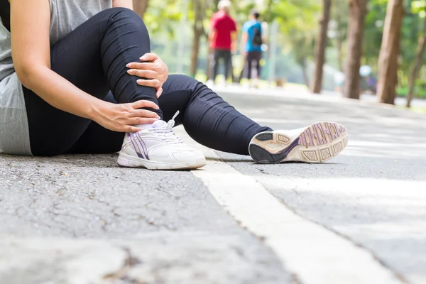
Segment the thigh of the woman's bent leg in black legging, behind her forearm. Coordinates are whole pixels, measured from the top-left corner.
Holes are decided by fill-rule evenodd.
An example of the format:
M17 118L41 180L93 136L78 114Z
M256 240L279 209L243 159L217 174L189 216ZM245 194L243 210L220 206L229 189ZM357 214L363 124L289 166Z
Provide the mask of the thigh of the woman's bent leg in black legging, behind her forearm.
M102 66L101 45L111 13L114 9L95 15L50 49L52 70L99 99L105 99L110 89ZM24 88L24 97L33 155L69 151L92 123L55 109L29 89Z

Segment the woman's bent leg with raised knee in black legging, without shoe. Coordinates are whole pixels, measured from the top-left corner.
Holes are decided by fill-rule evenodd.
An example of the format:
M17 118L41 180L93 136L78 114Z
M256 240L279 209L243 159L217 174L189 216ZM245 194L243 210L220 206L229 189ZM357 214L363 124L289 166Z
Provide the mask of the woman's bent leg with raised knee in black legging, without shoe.
M126 72L127 63L138 61L148 52L149 35L141 18L129 9L108 9L51 48L51 67L99 99L105 99L111 90L119 103L146 99L158 104L155 89L139 86L137 78ZM24 95L33 155L67 153L89 125L94 124L55 109L28 89L24 89ZM99 143L109 141L99 140Z

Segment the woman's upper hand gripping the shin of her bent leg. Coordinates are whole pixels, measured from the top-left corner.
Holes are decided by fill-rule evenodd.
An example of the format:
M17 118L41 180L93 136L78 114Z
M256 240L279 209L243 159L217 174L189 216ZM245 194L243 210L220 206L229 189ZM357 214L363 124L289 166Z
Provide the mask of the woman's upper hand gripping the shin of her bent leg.
M135 75L144 79L137 82L141 86L154 87L157 90L157 97L163 93L163 84L168 78L168 67L155 53L146 53L141 58L144 62L131 62L126 65L130 75Z

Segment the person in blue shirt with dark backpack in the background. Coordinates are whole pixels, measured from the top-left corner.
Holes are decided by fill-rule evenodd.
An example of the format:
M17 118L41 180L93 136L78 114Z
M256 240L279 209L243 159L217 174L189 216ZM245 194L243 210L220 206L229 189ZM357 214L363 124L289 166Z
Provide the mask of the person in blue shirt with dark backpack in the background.
M256 68L254 87L257 87L258 79L261 77L262 45L264 43L262 24L259 21L260 13L252 10L250 20L244 23L241 35L241 54L245 58L245 77L251 81L253 65Z

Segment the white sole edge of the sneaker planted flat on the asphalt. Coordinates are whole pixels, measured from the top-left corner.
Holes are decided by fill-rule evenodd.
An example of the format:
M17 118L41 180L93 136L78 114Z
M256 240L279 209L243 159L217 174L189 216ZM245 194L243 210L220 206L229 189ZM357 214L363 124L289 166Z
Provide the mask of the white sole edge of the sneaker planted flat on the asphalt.
M195 170L204 167L206 160L197 160L195 163L158 163L120 153L117 163L126 168L147 168L148 170Z

